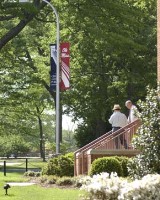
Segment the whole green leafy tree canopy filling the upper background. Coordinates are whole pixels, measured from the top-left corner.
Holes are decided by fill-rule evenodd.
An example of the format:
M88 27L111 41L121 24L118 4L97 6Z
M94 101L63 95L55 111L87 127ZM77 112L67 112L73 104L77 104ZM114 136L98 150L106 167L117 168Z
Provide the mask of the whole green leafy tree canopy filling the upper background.
M61 103L80 120L75 134L83 146L110 129L114 103L136 103L145 98L146 85L156 86L156 2L49 2L59 13L60 41L71 44L71 88L61 93ZM54 109L49 44L56 40L56 24L52 9L40 0L2 0L0 8L0 123L6 133L27 116L32 123L37 107Z

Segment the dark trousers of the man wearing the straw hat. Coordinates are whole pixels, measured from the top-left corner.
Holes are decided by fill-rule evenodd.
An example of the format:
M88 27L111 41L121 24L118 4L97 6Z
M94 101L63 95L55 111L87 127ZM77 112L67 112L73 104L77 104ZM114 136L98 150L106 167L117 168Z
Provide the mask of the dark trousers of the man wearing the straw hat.
M121 127L113 127L112 132L115 132L115 131L119 130L120 128ZM121 134L121 135L119 135L118 137L115 138L116 149L120 149L120 143L121 143L121 145L124 146L125 149L128 149L127 141L126 141L125 136L123 134Z

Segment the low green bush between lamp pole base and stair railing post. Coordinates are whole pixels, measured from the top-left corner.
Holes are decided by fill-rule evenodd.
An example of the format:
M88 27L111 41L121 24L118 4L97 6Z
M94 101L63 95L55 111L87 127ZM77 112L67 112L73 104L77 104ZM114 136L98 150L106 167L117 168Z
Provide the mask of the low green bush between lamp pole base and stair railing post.
M71 154L52 158L42 169L43 175L74 176L74 157Z

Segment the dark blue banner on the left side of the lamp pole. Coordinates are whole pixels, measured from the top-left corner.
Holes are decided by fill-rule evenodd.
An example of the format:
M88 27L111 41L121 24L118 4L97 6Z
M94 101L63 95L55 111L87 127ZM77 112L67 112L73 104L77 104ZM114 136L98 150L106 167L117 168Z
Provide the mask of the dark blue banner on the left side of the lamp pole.
M51 71L50 71L50 90L56 91L56 73L57 73L57 45L50 45L50 62L51 62Z

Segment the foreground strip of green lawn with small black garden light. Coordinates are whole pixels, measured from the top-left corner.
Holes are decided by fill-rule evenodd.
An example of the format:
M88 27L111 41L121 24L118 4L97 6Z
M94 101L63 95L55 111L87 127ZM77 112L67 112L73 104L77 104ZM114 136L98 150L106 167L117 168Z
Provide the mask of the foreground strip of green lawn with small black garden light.
M76 189L43 188L37 185L11 187L5 195L3 184L0 183L1 200L78 200L81 193Z

